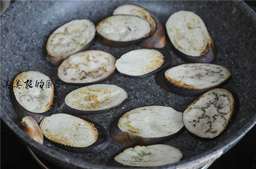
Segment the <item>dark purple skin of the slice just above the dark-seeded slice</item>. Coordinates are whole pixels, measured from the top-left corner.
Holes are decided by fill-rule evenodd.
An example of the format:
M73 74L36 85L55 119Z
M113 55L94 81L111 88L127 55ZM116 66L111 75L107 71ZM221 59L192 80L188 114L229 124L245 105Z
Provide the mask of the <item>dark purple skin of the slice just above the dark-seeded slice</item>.
M177 66L177 65L174 65L174 66ZM170 69L171 67L172 66L160 71L155 78L156 84L170 93L177 94L180 96L198 96L199 94L202 94L205 91L215 88L215 86L212 86L212 87L203 88L203 89L186 89L186 88L181 88L179 86L176 86L170 81L168 81L164 75L165 71ZM223 84L224 82L227 82L227 80L223 81L219 85Z

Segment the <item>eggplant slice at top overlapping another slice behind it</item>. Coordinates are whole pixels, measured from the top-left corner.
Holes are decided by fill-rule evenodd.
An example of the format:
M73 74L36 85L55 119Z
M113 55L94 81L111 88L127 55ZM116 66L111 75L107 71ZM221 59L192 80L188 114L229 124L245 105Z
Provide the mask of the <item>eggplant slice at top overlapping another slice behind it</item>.
M110 47L130 46L149 36L151 27L146 20L133 15L113 15L97 27L98 41Z

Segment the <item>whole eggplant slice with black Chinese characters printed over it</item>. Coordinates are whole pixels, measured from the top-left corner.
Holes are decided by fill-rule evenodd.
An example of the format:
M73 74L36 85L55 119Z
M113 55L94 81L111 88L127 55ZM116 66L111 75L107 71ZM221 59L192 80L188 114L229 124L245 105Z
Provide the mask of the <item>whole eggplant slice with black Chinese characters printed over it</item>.
M58 108L58 96L53 82L38 71L22 72L15 77L11 100L20 118L32 116L37 123L56 113Z

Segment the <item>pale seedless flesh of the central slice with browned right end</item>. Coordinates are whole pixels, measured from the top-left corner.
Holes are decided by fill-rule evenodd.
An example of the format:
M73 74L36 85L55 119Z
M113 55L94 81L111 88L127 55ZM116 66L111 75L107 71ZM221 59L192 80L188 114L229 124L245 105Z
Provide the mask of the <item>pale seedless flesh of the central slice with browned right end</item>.
M141 76L160 68L164 56L158 50L138 49L122 55L116 62L117 71L129 76Z

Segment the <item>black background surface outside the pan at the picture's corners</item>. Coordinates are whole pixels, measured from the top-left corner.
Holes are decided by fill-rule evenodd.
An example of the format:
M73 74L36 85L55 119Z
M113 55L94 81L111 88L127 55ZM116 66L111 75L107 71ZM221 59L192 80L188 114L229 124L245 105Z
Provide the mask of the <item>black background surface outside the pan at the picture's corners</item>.
M245 1L256 11L256 1ZM27 147L1 119L1 169L40 169ZM208 169L256 169L256 126L254 126L234 147L215 160ZM51 169L53 164L45 163Z

